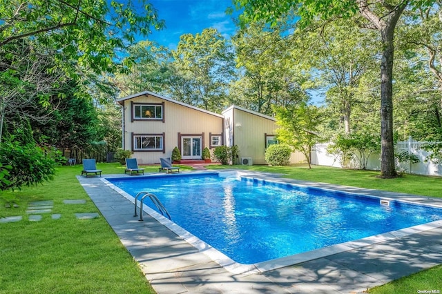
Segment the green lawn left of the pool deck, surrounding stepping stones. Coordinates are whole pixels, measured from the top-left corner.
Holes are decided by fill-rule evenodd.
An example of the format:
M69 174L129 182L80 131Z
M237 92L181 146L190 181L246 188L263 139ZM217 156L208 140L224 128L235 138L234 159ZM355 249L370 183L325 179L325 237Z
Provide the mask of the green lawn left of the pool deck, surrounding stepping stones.
M97 168L124 173L120 164ZM61 166L51 182L1 193L0 216L23 220L0 224L0 293L155 293L104 217L75 217L99 213L75 177L81 169ZM86 204L64 204L64 199L86 199ZM52 212L30 222L28 203L42 200L54 202ZM19 208L5 208L7 202ZM52 219L52 213L61 218Z

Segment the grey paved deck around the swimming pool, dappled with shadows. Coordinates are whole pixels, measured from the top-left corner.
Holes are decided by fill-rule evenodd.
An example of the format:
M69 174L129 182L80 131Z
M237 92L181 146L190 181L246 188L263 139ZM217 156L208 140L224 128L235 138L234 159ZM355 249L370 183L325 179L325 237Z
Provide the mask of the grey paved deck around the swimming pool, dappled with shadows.
M253 174L265 179L280 179L278 175ZM115 176L124 175L104 175ZM77 178L140 265L147 280L160 294L362 293L367 288L442 264L442 227L429 226L426 231L411 231L410 235L404 237L319 257L294 266L259 274L231 273L205 255L202 252L204 248L198 251L153 217L145 214L144 222L138 221L138 217L133 217L133 203L106 186L99 177ZM287 179L287 182L421 204L438 204L442 207L442 199L418 195L291 179ZM410 293L422 290L410 289Z

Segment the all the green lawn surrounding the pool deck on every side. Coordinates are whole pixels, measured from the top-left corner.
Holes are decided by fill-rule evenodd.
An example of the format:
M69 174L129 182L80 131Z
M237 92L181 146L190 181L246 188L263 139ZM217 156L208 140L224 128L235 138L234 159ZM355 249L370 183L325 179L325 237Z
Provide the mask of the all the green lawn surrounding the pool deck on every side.
M119 164L97 164L104 174L124 173ZM157 166L144 166L157 172ZM182 168L185 168L182 166ZM210 166L211 169L232 168ZM313 182L390 190L442 197L441 177L405 175L379 179L378 172L314 166L233 166ZM131 255L103 217L80 220L74 213L99 211L75 175L81 166L61 166L51 182L0 195L0 217L23 215L20 222L0 224L0 293L155 293ZM68 205L64 199L86 199L86 204ZM52 200L51 213L40 222L28 221L29 202ZM5 204L19 208L5 208ZM61 214L52 219L52 213ZM436 266L370 289L369 293L416 293L442 289L442 266Z

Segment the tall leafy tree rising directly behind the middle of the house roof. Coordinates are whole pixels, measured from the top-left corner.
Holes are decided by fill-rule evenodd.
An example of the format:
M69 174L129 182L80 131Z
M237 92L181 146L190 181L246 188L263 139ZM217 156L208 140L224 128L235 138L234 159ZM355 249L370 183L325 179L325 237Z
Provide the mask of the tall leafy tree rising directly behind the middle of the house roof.
M206 28L200 34L182 35L172 55L174 76L184 86L172 88L179 91L173 97L206 110L222 110L235 72L227 40L214 28Z

